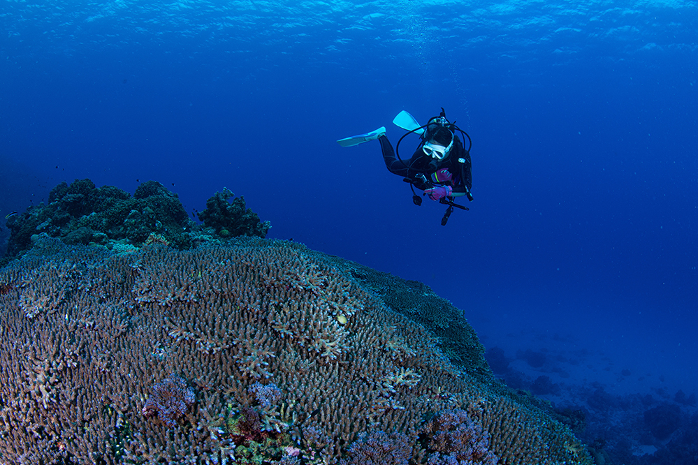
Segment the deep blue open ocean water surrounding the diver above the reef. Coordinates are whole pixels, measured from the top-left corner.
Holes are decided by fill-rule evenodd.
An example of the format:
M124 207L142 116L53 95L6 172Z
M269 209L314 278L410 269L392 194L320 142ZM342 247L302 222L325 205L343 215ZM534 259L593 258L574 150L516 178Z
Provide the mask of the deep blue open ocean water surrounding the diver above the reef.
M488 347L578 356L561 383L698 391L695 1L6 0L0 52L3 216L85 177L189 211L227 186ZM445 227L377 142L335 143L441 107L473 140Z

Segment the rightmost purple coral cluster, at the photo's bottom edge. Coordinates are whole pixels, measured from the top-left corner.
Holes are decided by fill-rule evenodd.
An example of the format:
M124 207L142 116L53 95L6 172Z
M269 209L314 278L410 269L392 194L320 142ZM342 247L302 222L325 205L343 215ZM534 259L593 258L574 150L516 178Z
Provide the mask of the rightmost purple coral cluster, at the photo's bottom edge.
M432 451L428 465L497 464L486 431L460 408L440 412L421 433Z

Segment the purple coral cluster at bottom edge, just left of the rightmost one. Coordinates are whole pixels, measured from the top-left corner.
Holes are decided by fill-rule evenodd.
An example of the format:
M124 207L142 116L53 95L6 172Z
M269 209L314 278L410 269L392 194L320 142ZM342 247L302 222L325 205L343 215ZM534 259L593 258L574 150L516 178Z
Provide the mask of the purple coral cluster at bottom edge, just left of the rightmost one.
M412 458L412 447L405 434L394 431L373 431L361 434L347 450L348 457L340 465L407 465Z

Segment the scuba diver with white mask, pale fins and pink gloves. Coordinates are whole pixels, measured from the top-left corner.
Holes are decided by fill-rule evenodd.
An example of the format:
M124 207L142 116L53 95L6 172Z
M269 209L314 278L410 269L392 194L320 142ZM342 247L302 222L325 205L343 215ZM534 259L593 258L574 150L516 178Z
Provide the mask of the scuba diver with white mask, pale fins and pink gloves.
M453 212L453 207L468 209L455 202L457 197L465 195L472 202L472 194L470 193L472 187L470 166L472 140L470 140L470 135L456 126L455 121L451 123L446 119L444 108L441 109L439 116L430 118L423 126L420 126L416 119L404 110L393 119L393 123L409 131L398 140L395 150L386 138L385 126L370 133L337 140L337 143L342 147L352 147L370 140L378 140L381 143L383 160L388 171L394 175L402 176L403 180L410 184L412 201L415 205L422 203L421 197L414 191L416 187L424 191L423 195L428 195L431 200L449 206L441 220L442 226L446 226L446 222L449 221L449 216ZM463 135L463 140L467 138L467 149L456 131ZM403 161L400 158L400 142L412 133L419 134L421 140L412 158L409 158L409 161Z

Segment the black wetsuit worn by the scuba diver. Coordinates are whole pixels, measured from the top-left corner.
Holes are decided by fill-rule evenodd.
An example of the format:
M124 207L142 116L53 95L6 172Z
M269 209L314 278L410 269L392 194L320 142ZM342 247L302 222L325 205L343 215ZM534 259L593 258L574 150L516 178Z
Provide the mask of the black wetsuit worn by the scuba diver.
M463 143L458 137L453 140L451 152L443 160L435 160L422 151L423 142L414 151L412 158L409 161L402 162L395 157L395 150L385 135L381 135L378 139L381 142L383 150L383 160L386 162L388 171L393 175L407 177L412 179L414 186L417 189L429 189L429 184L421 182L419 175L425 175L429 182L435 185L451 186L453 193L465 195L470 192L472 187L472 172L470 168L470 153L467 152ZM453 178L447 182L433 182L431 175L437 170L448 168Z

